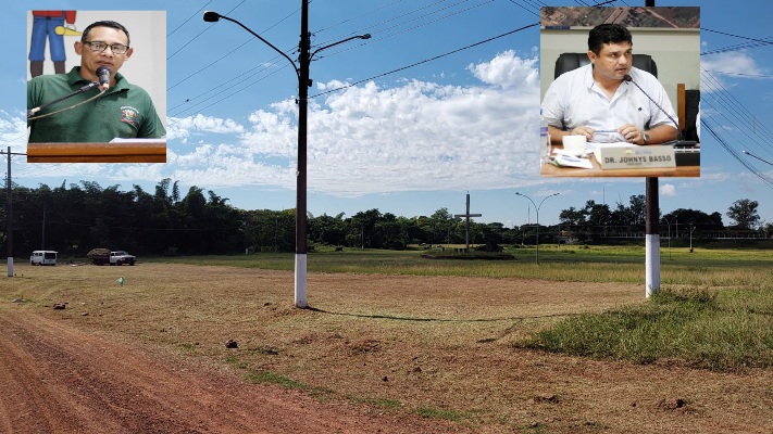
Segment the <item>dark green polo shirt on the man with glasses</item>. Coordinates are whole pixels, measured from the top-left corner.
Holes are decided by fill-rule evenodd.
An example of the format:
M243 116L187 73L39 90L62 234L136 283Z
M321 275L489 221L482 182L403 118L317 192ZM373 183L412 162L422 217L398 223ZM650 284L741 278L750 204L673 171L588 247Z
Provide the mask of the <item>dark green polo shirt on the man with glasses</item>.
M68 94L90 81L75 66L67 74L41 75L27 81L27 110ZM70 107L99 93L99 88L60 101L34 117ZM27 120L29 142L107 143L117 137L160 138L166 135L153 102L145 89L129 84L120 73L115 86L87 103L51 116Z

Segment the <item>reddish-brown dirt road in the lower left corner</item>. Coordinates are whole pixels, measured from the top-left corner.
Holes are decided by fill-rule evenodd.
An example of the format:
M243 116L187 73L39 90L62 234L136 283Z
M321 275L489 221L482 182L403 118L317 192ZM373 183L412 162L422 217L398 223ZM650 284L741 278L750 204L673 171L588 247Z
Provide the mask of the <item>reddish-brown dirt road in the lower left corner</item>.
M1 433L460 432L437 420L246 385L66 320L4 310L0 330Z

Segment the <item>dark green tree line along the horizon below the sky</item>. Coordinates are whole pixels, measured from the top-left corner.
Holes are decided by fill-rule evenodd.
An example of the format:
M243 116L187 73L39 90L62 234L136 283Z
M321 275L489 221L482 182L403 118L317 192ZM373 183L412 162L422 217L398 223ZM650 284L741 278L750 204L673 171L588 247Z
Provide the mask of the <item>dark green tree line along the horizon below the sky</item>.
M161 180L154 191L139 186L122 191L120 186L102 188L80 181L51 188L40 184L11 188L13 208L13 253L24 256L35 250L54 250L85 256L96 247L126 250L139 255L201 255L248 252L292 252L295 209L239 209L228 199L209 190L190 187L185 195L178 181ZM684 238L725 234L769 238L771 225L757 214L758 203L736 201L727 212L734 221L722 222L718 212L706 214L676 209L662 215L661 234ZM0 239L8 242L8 195L0 197ZM465 221L447 208L431 216L401 217L378 209L353 216L308 215L308 242L315 246L402 250L409 245L464 244ZM616 239L643 238L645 196L631 196L628 204L587 201L582 207L560 213L559 224L522 225L511 228L500 222L470 224L471 243L501 244L608 243ZM12 254L13 254L12 253Z

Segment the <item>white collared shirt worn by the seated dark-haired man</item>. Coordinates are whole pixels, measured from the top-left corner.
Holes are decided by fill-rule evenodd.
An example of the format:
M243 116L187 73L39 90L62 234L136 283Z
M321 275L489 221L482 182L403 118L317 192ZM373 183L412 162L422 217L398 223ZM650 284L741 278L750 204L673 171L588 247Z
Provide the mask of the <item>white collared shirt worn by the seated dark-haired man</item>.
M676 119L674 110L658 79L646 71L632 68L628 73L668 114ZM636 85L623 81L610 100L594 80L593 64L559 76L545 92L543 116L556 128L571 131L588 126L596 131L616 130L625 124L648 130L662 124L673 125ZM597 133L595 141L624 141L615 133Z

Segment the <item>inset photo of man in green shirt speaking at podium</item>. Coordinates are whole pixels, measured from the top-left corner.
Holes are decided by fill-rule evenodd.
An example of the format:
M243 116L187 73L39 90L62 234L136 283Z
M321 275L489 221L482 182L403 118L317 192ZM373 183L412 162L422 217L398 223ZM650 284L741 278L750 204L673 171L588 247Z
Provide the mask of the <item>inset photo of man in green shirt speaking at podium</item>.
M27 162L166 162L166 11L28 11Z

